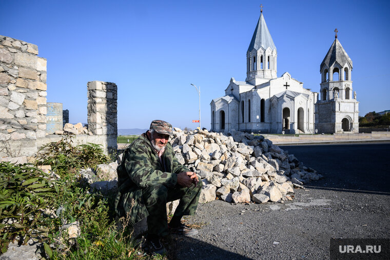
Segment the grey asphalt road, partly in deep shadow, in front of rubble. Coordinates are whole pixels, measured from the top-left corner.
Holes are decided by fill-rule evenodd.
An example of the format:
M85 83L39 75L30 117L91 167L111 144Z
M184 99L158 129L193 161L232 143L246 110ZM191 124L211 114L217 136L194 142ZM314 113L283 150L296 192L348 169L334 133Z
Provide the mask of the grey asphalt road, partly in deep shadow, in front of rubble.
M330 238L390 238L390 144L282 148L324 179L285 204L200 205L199 234L171 236L168 258L328 259Z

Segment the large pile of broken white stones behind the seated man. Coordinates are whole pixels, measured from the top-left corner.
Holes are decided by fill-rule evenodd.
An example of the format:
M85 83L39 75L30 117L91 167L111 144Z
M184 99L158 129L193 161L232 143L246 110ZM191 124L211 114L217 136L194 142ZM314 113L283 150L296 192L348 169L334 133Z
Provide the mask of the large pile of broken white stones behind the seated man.
M202 177L200 203L283 203L293 188L322 177L262 135L174 128L170 143L179 162Z

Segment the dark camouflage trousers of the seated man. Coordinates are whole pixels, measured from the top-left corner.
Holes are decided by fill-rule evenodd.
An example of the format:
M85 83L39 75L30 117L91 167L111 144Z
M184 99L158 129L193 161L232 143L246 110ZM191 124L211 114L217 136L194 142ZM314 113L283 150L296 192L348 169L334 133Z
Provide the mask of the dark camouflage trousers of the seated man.
M168 235L166 203L180 199L174 211L175 216L193 215L198 207L202 182L195 187L174 186L168 188L163 184L149 186L142 190L142 197L148 210L148 233L159 236Z

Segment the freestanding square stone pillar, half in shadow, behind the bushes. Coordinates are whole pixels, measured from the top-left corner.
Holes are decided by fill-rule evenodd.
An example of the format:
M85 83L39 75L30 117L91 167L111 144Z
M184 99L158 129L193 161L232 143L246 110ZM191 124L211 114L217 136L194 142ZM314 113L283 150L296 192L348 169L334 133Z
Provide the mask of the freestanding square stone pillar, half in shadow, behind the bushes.
M114 83L92 81L87 84L88 89L88 131L94 135L106 135L104 150L116 150L117 126L117 93Z

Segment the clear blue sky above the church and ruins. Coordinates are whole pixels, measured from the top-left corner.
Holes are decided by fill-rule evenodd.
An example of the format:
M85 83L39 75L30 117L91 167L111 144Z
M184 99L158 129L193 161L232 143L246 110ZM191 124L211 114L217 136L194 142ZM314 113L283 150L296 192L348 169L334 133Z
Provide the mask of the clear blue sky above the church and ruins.
M338 39L353 61L360 115L390 109L389 1L10 1L0 34L36 44L47 58L48 102L87 122L87 82L118 85L118 128L153 119L202 127L230 78L244 81L246 51L263 14L288 71L319 92L320 64Z

